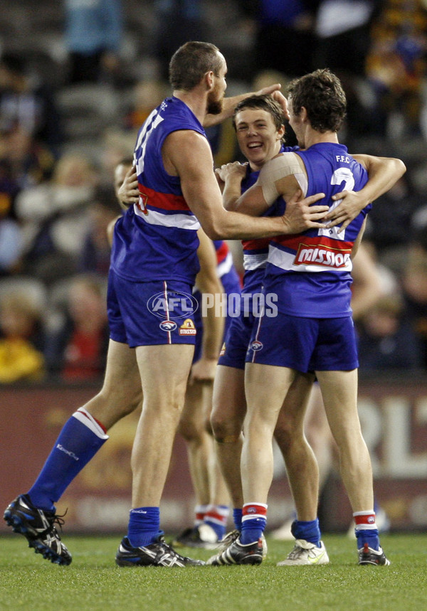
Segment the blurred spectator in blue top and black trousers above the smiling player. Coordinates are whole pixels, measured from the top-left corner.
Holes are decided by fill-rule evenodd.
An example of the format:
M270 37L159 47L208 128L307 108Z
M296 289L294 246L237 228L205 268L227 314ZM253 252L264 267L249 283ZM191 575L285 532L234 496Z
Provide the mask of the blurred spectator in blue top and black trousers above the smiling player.
M255 21L254 68L279 70L291 78L311 72L318 0L240 0L239 4Z

